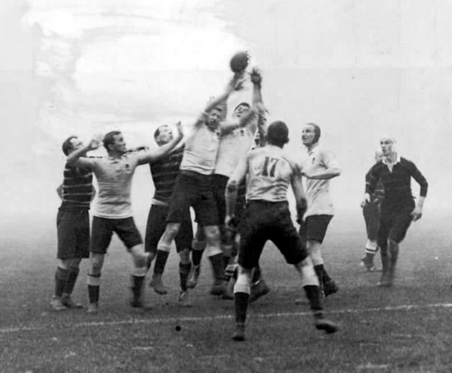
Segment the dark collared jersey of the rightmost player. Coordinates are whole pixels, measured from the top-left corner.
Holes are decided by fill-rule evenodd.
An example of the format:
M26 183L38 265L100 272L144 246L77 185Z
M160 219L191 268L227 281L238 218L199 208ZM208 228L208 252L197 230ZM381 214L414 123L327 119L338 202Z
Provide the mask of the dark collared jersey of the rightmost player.
M400 204L412 200L411 178L420 185L420 196L427 196L427 179L417 170L416 165L405 158L398 158L393 170L385 162L377 162L366 176L366 193L373 194L376 184L381 181L384 187L383 201Z

